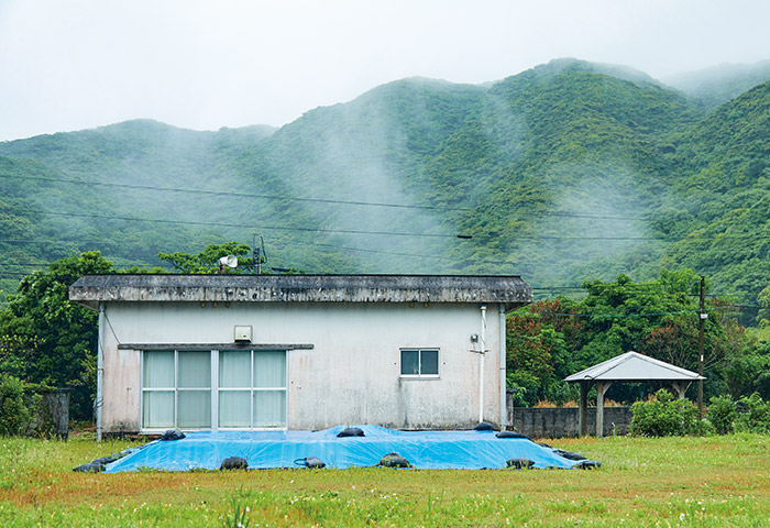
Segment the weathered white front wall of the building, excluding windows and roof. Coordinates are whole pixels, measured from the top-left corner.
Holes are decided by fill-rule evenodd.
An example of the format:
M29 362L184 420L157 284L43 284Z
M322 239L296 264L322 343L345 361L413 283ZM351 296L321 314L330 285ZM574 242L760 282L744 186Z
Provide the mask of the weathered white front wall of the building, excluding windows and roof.
M106 316L105 432L140 429L141 350L127 343L228 343L237 324L253 327L255 344L312 345L287 352L289 429L479 422L480 354L470 351L479 304L117 302ZM498 424L498 305L487 307L486 322L483 419ZM439 377L403 378L403 348L439 349Z

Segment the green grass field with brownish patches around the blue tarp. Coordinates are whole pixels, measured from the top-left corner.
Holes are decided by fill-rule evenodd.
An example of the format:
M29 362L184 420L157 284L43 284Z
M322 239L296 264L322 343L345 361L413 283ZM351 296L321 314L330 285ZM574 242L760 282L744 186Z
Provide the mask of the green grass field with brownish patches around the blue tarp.
M604 466L82 474L129 442L0 438L0 526L770 526L770 437L552 443Z

